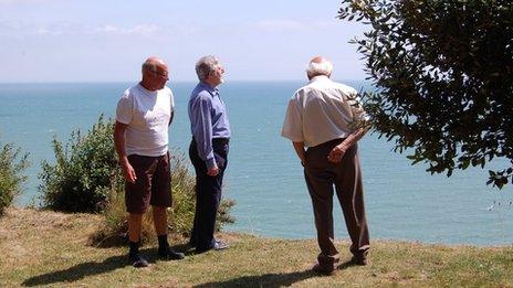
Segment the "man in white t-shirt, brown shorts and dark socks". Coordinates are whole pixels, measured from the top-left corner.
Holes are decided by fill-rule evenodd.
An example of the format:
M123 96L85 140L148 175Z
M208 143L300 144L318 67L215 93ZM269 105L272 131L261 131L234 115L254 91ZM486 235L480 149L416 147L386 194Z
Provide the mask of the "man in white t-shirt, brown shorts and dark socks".
M169 247L166 209L171 206L168 127L174 116L172 92L166 87L168 67L149 57L143 64L143 79L123 94L117 103L114 143L125 175L128 215L128 258L134 267L146 267L139 255L140 223L151 205L160 259L181 259Z

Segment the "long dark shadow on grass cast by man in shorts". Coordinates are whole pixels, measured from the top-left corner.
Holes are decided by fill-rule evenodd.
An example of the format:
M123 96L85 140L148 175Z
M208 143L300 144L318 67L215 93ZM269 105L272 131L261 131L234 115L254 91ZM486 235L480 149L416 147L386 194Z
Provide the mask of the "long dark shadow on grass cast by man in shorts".
M146 259L151 264L155 263L157 257L156 248L142 249L140 254L146 257ZM128 262L127 255L119 255L108 257L105 260L98 262L87 262L81 263L73 267L70 267L64 270L51 271L42 275L38 275L24 280L22 286L42 286L42 285L52 285L57 282L72 284L76 280L83 279L87 276L100 275L104 273L114 271L126 266L132 266ZM136 268L134 268L136 269Z

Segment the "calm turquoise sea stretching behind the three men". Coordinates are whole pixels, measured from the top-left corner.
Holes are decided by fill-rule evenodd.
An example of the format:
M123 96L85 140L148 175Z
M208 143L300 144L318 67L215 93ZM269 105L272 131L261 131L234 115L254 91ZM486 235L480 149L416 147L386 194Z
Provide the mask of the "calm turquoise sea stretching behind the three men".
M344 82L358 90L363 81ZM54 162L51 141L86 131L100 115L114 117L123 92L134 83L0 84L0 143L13 142L30 153L29 180L18 205L38 205L41 161ZM265 237L315 238L312 203L292 143L282 138L286 104L305 82L229 82L219 89L232 128L223 196L237 202L228 231ZM187 102L195 82L170 82L176 116L169 141L174 153L190 142ZM369 132L359 141L367 218L371 239L400 239L450 245L511 245L513 188L485 184L489 169L446 174L412 166L411 151ZM188 159L188 158L186 158ZM334 204L335 237L347 238L341 207Z

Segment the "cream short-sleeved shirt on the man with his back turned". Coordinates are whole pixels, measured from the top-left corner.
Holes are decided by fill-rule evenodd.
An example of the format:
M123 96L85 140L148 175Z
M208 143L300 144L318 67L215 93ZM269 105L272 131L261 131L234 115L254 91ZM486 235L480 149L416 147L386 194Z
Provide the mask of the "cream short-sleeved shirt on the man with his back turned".
M367 120L357 92L326 76L315 76L289 102L282 136L314 147L346 138Z

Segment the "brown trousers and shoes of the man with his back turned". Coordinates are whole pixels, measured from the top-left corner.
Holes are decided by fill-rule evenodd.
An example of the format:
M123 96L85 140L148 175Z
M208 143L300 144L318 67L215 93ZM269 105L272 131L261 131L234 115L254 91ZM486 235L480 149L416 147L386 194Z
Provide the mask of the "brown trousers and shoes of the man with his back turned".
M321 247L317 260L327 269L335 267L339 260L333 233L333 185L352 241L350 253L357 259L365 259L369 249L357 145L346 151L341 162L327 160L329 151L342 141L343 139L336 139L308 148L304 169Z

